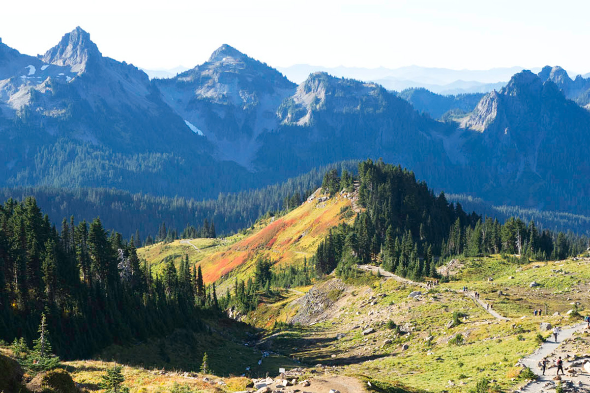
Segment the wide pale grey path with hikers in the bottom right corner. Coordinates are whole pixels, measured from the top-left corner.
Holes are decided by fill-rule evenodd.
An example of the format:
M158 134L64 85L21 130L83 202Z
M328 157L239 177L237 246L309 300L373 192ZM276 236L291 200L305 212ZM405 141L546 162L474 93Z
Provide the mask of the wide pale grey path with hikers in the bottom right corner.
M547 368L545 371L545 375L541 375L542 371L539 368L539 362L541 359L545 358L545 356L550 356L566 339L570 338L573 333L584 329L586 323L580 323L579 325L571 326L570 328L562 329L559 332L557 342L553 341L553 335L549 337L547 341L545 341L539 348L527 356L523 358L520 363L529 367L535 374L539 375L536 381L529 382L525 387L520 389L522 392L527 393L540 393L543 391L547 391L548 388L545 388L545 384L555 377L556 369L555 368ZM549 365L555 363L555 359L549 359ZM549 366L548 365L548 366ZM563 368L568 367L568 362L563 362ZM566 375L566 380L573 379L570 375ZM582 381L585 385L590 384L590 377L588 374L580 375L579 378L575 378L576 380Z

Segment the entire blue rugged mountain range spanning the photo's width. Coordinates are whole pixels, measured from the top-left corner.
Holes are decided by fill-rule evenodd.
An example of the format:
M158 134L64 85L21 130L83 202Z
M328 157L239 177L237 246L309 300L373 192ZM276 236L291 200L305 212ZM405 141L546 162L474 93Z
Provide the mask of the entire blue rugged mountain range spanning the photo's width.
M230 45L149 80L76 28L38 57L0 44L0 185L201 199L382 157L437 189L583 214L587 83L546 67L452 99L326 72L297 85Z

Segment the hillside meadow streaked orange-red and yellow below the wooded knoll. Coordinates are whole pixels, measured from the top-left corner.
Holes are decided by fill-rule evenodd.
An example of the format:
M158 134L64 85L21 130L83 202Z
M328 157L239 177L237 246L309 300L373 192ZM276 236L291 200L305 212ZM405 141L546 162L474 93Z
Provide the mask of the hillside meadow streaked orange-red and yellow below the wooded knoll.
M319 193L316 193L319 194ZM245 235L226 239L191 239L194 247L181 244L181 240L143 247L138 255L152 263L155 272L166 256L178 263L188 253L191 263L199 263L206 283L230 275L247 279L260 257L270 257L280 264L297 263L311 257L317 245L327 236L329 229L343 221L352 222L354 216L345 219L340 210L352 202L336 196L319 202L305 202L278 219L261 220Z

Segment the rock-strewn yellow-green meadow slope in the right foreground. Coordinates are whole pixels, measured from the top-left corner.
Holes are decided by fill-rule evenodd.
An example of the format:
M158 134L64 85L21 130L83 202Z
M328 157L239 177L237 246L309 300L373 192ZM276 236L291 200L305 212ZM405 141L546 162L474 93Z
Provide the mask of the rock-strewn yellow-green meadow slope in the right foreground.
M581 310L588 304L590 259L524 266L511 265L499 256L463 262L465 266L455 280L428 291L419 301L408 299L407 295L424 288L392 279L369 276L365 283L361 279L355 285L349 282L349 289L337 300L337 309L325 321L312 326L284 327L269 333L268 339L282 354L307 364L337 365L335 372L339 374L370 375L373 380L402 382L414 389L464 392L474 388L481 377L497 381L503 389L514 388L523 383L514 379L514 364L537 348L539 323L569 325L576 321L565 317L565 312L574 307L571 303L581 303ZM493 281L488 280L490 276ZM533 280L542 286L530 288ZM492 303L496 311L509 316L511 321L492 318L473 300L455 292L464 285L478 290L481 299ZM548 315L533 317L532 310L545 310L545 305ZM455 311L468 318L448 329L445 325ZM296 312L293 304L282 300L259 308L250 319L288 321ZM553 316L553 312L561 315ZM405 325L402 331L407 332L398 335L387 329L385 323L390 319ZM367 327L376 332L363 335ZM338 333L346 336L337 339ZM464 336L463 345L450 344L457 333ZM431 342L425 340L428 336L433 337ZM385 344L389 339L392 342ZM409 348L403 350L403 344Z

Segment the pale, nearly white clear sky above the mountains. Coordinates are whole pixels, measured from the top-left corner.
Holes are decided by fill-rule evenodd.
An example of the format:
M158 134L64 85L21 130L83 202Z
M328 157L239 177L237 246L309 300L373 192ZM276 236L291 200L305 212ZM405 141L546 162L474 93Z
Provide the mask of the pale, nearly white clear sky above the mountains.
M30 55L80 26L105 56L194 67L221 44L273 67L405 65L590 71L590 1L194 0L3 2L0 37Z

